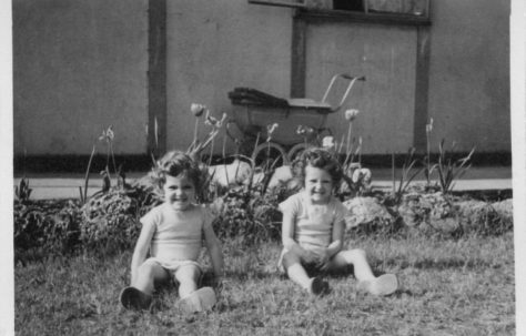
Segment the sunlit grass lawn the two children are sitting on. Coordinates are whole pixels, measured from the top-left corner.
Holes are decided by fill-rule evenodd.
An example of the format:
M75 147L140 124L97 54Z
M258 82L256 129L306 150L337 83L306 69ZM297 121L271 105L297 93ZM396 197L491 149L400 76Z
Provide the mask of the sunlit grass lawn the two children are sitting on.
M216 308L182 316L176 289L151 312L121 308L131 252L16 266L18 335L514 335L513 233L441 240L353 241L377 273L396 273L388 297L356 291L352 275L328 277L313 297L275 272L277 243L252 250L223 244L226 278Z

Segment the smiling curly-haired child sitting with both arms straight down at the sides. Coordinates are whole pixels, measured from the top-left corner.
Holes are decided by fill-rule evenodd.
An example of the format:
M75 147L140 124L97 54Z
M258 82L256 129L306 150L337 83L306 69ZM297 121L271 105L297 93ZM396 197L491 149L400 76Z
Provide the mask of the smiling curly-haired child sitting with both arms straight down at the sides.
M180 307L184 312L210 309L215 304L211 287L198 288L202 276L198 263L203 242L210 255L215 284L223 276L223 255L212 228L213 215L195 203L204 175L199 163L182 152L169 152L153 171L164 203L141 220L131 263L131 286L120 301L129 309L148 309L155 286L172 278L179 284Z

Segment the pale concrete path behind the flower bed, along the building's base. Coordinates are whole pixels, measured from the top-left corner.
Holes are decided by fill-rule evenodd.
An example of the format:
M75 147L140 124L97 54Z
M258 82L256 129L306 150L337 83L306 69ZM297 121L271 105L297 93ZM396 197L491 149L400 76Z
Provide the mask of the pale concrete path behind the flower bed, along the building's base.
M392 171L390 169L372 169L373 189L388 191L393 189ZM129 173L127 181L144 176L145 172ZM395 181L399 180L401 172L395 172ZM21 176L16 176L14 185L19 185ZM79 198L79 187L84 187L82 174L28 174L29 187L32 189L31 200L47 198ZM424 183L422 179L415 183ZM112 185L117 181L112 180ZM90 175L88 195L101 190L102 180L100 175ZM512 167L472 167L462 180L455 183L455 191L476 190L509 190L513 189Z

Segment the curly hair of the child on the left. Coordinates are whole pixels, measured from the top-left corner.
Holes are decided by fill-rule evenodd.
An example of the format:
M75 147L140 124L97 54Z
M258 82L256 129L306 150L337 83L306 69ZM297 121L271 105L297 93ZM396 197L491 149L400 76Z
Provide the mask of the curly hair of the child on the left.
M200 191L205 181L205 173L200 167L198 161L181 151L171 151L164 154L155 163L150 177L156 187L163 189L166 183L166 175L178 177L184 175L189 177L196 191Z

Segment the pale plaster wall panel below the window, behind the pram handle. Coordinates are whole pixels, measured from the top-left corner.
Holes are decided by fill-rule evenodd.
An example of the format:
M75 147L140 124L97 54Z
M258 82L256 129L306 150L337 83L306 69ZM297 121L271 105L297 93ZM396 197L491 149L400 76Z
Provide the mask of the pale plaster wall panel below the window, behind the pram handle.
M343 108L327 119L336 139L347 135L345 110L358 109L352 136L362 136L364 152L406 151L413 142L416 28L318 22L307 26L306 40L306 96L322 99L335 73L366 78L355 82ZM347 84L337 83L333 106Z

